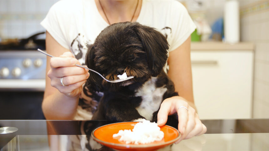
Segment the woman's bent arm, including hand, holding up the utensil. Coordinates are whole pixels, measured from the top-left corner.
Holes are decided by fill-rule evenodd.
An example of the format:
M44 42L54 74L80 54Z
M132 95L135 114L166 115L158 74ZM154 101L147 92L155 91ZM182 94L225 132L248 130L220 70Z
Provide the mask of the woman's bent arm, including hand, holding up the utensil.
M46 119L73 119L76 113L82 84L89 77L88 70L76 67L79 61L46 32L46 51L60 57L47 57L46 87L42 110ZM63 83L68 86L62 86Z

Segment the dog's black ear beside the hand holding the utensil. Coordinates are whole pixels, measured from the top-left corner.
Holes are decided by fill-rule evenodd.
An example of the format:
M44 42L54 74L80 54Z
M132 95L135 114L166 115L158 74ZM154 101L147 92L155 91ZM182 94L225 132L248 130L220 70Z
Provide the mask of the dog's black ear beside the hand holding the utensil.
M93 45L91 45L86 53L86 66L90 69L93 69L96 71L96 67L94 64L94 58L95 58L95 48ZM97 73L94 73L93 71L89 71L90 76L87 79L85 85L88 87L88 89L94 90L94 91L102 91L102 78L97 75Z

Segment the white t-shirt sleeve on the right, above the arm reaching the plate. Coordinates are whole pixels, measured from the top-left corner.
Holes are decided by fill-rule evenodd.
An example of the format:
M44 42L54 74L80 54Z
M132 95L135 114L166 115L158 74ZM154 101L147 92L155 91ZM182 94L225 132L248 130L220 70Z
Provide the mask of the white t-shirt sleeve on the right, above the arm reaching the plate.
M196 28L187 9L180 2L175 1L172 5L172 39L169 51L173 51L182 45Z

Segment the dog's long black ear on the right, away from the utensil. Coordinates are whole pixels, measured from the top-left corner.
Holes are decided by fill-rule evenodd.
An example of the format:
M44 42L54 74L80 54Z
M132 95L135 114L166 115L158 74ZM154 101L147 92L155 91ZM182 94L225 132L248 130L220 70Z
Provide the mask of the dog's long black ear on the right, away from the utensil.
M134 25L134 31L144 45L151 75L158 76L168 58L169 44L166 38L155 28L138 23Z

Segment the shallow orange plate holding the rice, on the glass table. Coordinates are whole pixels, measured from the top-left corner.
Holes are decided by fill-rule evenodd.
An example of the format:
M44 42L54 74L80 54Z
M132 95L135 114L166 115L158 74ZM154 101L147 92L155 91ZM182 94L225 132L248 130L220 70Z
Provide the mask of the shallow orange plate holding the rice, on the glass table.
M113 134L117 134L119 130L134 129L134 125L138 122L121 122L101 126L92 131L92 137L95 141L104 146L117 150L157 150L174 143L179 139L179 131L171 126L161 126L160 130L164 132L164 138L148 144L125 144L119 141L120 137L113 138Z

